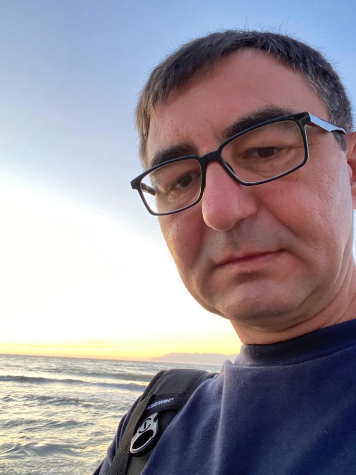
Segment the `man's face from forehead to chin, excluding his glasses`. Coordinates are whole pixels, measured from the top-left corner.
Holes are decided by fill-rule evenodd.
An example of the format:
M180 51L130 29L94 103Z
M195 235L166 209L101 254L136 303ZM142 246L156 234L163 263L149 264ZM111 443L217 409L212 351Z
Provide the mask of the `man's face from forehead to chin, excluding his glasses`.
M156 107L148 163L176 145L184 155L214 151L229 125L270 107L328 120L299 73L265 53L235 53ZM309 148L305 166L257 186L236 183L212 162L202 200L160 217L189 292L235 328L278 331L306 321L343 283L352 260L350 168L331 133L313 128Z

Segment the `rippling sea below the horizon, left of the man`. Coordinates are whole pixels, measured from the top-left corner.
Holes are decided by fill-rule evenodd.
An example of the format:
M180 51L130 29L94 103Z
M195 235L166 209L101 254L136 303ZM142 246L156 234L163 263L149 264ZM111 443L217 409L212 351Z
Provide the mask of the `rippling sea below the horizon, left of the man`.
M0 355L0 475L91 475L161 369L216 366Z

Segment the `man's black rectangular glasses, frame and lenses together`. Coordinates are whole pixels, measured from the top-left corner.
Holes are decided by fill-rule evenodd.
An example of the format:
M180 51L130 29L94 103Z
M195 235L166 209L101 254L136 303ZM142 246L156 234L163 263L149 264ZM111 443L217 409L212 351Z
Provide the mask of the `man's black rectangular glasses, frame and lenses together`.
M151 214L164 215L186 210L199 202L204 193L206 167L212 161L220 163L241 185L276 180L307 162L307 125L346 134L343 128L310 112L286 115L233 135L203 157L178 157L148 168L131 181L131 186Z

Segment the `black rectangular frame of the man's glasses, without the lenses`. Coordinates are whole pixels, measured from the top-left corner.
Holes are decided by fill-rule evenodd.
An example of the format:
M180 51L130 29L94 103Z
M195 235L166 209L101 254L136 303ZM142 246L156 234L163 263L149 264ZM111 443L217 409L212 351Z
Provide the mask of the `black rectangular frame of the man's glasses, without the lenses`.
M295 167L291 168L290 170L285 171L283 173L280 173L279 175L272 176L271 178L267 178L265 180L260 180L260 181L255 181L255 182L250 183L250 182L243 181L243 180L241 180L241 178L236 176L235 173L230 168L230 166L228 165L228 163L226 163L223 160L223 157L222 157L223 148L227 144L232 142L233 140L235 140L235 139L237 139L237 138L241 137L242 135L245 135L249 132L252 132L255 129L259 129L260 127L263 127L265 125L275 124L277 122L283 122L283 121L286 121L286 120L290 120L290 121L295 122L299 127L299 130L300 130L302 138L303 138L303 144L304 144L304 151L305 151L304 160L299 165L296 165ZM316 115L313 115L310 112L299 112L297 114L285 115L285 116L282 116L282 117L277 117L277 118L274 118L274 119L265 120L264 122L260 122L259 124L253 125L252 127L248 127L247 129L242 130L238 134L235 134L232 137L229 137L228 139L226 139L219 146L219 148L217 150L215 150L213 152L209 152L209 153L203 155L202 157L199 157L198 155L187 155L187 156L184 156L184 157L172 158L171 160L167 160L167 161L164 161L162 163L158 163L157 165L152 166L151 168L148 168L147 170L145 170L144 172L142 172L138 176L136 176L130 182L131 187L132 187L133 190L137 190L144 206L146 207L147 211L150 214L153 214L154 216L163 216L163 215L166 215L166 214L174 214L174 213L178 213L179 211L187 210L188 208L191 208L192 206L196 205L201 200L201 198L203 196L203 193L204 193L204 189L205 189L206 166L211 161L217 161L218 163L220 163L222 165L222 167L224 168L224 170L228 173L228 175L233 180L235 180L237 183L240 183L241 185L244 185L244 186L262 185L263 183L268 183L269 181L277 180L278 178L281 178L282 176L285 176L285 175L288 175L289 173L292 173L293 171L297 170L298 168L300 168L301 166L303 166L307 163L308 158L309 158L309 149L308 149L307 131L305 129L306 125L312 125L314 127L319 127L323 130L326 130L327 132L338 132L338 133L346 134L346 131L342 127L338 127L336 125L331 124L330 122L327 122L326 120L320 119L320 117L317 117ZM150 207L148 206L148 204L147 204L147 202L146 202L146 200L143 196L143 192L142 192L142 188L141 188L141 181L143 180L143 178L146 175L148 175L149 173L151 173L152 171L156 170L157 168L160 168L160 167L165 166L165 165L169 165L170 163L175 163L175 162L178 162L178 161L181 161L181 160L188 160L188 159L192 159L192 158L196 159L199 162L200 168L201 168L201 189L200 189L199 197L195 200L194 203L191 203L190 205L185 206L183 208L179 208L178 210L168 211L168 212L164 212L164 213L159 213L159 212L152 211L150 209Z

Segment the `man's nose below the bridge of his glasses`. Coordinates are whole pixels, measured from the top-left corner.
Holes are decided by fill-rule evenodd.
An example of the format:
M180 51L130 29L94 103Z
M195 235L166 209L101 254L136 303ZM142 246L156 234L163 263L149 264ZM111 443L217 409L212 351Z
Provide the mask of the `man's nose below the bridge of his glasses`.
M205 224L216 231L227 231L256 214L252 188L233 180L219 163L209 163L201 204Z

